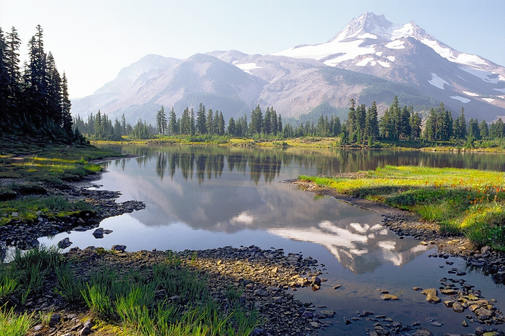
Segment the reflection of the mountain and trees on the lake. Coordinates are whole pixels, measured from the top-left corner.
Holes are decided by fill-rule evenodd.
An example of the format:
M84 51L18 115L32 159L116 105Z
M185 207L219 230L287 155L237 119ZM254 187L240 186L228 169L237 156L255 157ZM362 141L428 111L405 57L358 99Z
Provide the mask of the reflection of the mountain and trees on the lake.
M276 182L302 174L332 175L386 164L505 168L505 159L493 153L181 145L107 147L143 155L106 162L104 166L110 172L102 182L104 189L121 190L124 195L120 200L144 201L147 208L129 216L143 227L153 228L158 236L166 235L166 248L182 241L170 227L178 228L175 235L182 234L181 227L186 228L186 244L195 232L208 232L206 246L212 242L216 245L213 247L232 240L236 246L257 244L268 248L261 241L277 237L323 246L355 274L371 273L385 264L403 266L426 248L416 240L399 239L386 230L377 213ZM242 232L247 232L247 238ZM148 245L153 238L147 235L137 230L134 238Z

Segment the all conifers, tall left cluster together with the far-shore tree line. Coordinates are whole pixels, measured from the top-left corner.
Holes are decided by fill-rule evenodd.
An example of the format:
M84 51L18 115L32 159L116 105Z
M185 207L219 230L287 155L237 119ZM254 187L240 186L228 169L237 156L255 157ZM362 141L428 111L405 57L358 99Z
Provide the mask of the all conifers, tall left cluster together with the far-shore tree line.
M28 41L28 60L19 60L21 40L12 27L4 33L0 28L0 132L4 135L27 135L63 143L90 140L150 139L158 135L252 137L254 139L287 139L299 137L336 137L339 144L372 145L391 140L461 141L466 146L492 146L502 143L505 124L501 118L488 124L471 118L465 110L452 117L443 103L431 108L422 122L414 106L401 107L395 96L379 118L377 106L358 105L350 100L347 119L333 114L320 115L317 122L283 123L273 107L265 112L258 105L247 115L231 117L225 123L223 113L200 103L196 111L186 108L177 117L174 108L166 113L163 106L156 112L156 124L139 119L133 126L124 114L121 120L109 119L98 111L86 120L72 118L71 102L65 73L60 76L53 54L44 51L43 30L36 27Z

